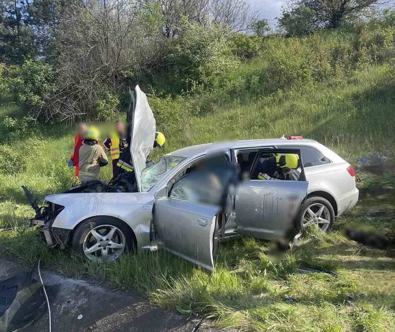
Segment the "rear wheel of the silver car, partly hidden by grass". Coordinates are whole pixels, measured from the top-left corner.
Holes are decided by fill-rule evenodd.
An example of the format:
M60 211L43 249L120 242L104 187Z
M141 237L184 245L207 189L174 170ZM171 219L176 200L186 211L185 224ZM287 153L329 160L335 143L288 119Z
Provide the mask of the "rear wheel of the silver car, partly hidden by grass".
M323 232L329 231L335 221L335 211L329 201L323 197L310 197L302 204L297 217L299 229L305 229L310 223L316 224Z

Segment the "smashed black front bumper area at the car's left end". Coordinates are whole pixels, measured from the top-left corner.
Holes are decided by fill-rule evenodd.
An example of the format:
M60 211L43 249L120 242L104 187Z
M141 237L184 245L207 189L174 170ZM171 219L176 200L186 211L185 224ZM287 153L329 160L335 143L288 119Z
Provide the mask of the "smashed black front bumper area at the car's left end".
M29 227L37 226L45 245L49 247L60 246L61 249L66 248L70 240L71 230L52 227L56 216L64 209L64 206L51 202L47 202L47 206L38 206L30 191L26 187L22 188L30 205L36 211L34 218L29 221Z

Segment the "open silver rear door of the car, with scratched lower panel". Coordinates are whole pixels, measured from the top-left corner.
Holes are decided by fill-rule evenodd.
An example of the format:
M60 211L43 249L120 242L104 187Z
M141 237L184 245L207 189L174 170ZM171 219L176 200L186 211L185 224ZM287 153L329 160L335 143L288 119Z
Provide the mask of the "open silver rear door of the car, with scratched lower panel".
M294 220L307 195L306 181L300 150L263 149L259 150L251 168L251 174L257 173L258 163L263 158L285 154L297 154L300 171L296 168L287 178L280 179L267 176L244 181L235 200L236 224L239 234L267 240L276 240L286 236L294 227ZM264 170L259 170L265 173ZM270 172L268 172L270 173Z

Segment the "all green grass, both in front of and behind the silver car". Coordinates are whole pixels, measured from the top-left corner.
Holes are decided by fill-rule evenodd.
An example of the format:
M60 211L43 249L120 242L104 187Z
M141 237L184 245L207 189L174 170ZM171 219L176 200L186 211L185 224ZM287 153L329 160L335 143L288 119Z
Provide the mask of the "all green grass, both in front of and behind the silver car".
M246 63L229 77L254 81L253 77L264 69L265 63L260 67L257 62ZM228 89L228 99L204 94L196 100L201 112L190 119L184 130L167 137L164 152L211 142L232 131L240 139L301 134L333 148L354 165L359 156L374 152L393 157L394 86L384 74L384 67L372 67L347 84L333 87L322 83L303 92L290 89L269 93L258 86L254 93L248 90L234 94L233 88L224 87ZM5 115L16 111L15 107L0 109L0 126ZM3 127L0 129L5 132ZM6 144L6 134L0 139L1 144ZM73 183L73 169L66 167L73 147L71 128L41 126L32 135L11 140L11 144L28 158L21 173L0 176L0 227L13 228L0 231L0 254L5 257L25 266L36 265L41 257L45 268L51 271L134 291L149 297L153 304L175 308L186 315L211 317L213 324L223 328L395 330L393 249L366 248L341 234L345 223L358 222L395 240L395 204L388 196L366 197L351 214L337 221L330 234L310 230L300 248L287 253L277 264L270 263L265 254L269 243L248 238L222 244L212 274L162 251L124 255L115 263L97 264L81 259L69 249L46 248L36 229L16 228L26 225L33 213L21 185L26 184L42 199ZM158 158L159 153L156 151L153 157ZM103 178L108 180L111 167L103 171ZM357 175L360 187L372 183L367 180L371 175ZM381 212L372 214L373 210ZM299 264L334 274L299 274Z

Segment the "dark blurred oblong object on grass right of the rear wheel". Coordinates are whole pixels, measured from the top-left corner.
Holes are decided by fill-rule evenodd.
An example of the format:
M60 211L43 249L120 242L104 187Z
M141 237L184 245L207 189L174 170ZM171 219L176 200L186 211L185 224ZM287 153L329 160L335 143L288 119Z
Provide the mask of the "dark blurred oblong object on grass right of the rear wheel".
M387 237L383 233L365 225L350 223L344 227L343 233L346 238L365 246L377 249L386 249L388 246Z

